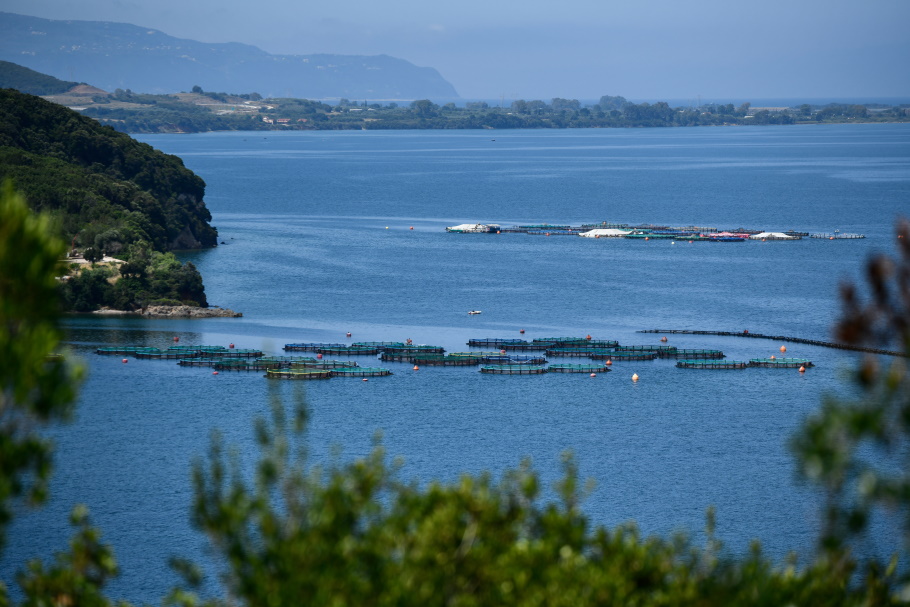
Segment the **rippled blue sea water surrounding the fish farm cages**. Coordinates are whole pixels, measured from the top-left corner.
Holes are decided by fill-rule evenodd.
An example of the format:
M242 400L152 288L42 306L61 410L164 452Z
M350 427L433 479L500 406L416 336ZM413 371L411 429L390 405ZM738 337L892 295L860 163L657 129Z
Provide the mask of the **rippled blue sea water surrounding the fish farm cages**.
M209 558L189 524L190 461L216 429L252 461L252 420L268 414L270 389L286 400L305 390L316 463L336 447L342 460L365 455L381 430L405 479L498 475L527 457L549 487L570 451L595 483L584 504L595 524L634 520L645 534L698 538L714 505L732 553L759 538L775 557L811 554L819 496L797 479L788 441L823 395L852 394L854 353L670 335L668 345L737 360L786 345L787 356L816 366L800 374L617 362L591 378L381 363L394 375L301 386L92 352L167 346L175 336L276 354L300 341L410 338L450 352L482 337L658 343L642 329L830 340L839 283L861 280L866 259L893 251L895 220L910 211L908 127L143 136L208 184L223 244L181 257L202 272L212 304L244 316L67 319L89 377L74 422L51 430L52 499L17 513L0 573L10 579L26 559L63 548L66 515L85 503L121 565L111 594L157 602L176 583L169 556ZM603 221L866 238L727 244L444 231Z

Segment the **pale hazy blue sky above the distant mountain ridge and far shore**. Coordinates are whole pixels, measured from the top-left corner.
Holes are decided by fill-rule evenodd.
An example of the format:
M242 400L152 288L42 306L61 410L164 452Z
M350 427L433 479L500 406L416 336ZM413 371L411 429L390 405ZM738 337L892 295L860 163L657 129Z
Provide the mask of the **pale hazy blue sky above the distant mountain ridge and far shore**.
M910 97L910 0L0 0L272 53L387 54L465 98Z

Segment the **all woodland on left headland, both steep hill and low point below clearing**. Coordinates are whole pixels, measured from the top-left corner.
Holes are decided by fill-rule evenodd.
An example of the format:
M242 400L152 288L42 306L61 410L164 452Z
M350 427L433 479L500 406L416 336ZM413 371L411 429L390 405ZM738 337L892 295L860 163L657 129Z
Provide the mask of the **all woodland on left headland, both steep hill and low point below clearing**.
M198 271L170 251L214 246L218 235L203 202L205 183L176 156L2 89L0 181L11 181L32 210L46 212L56 234L91 262L63 282L70 309L206 305ZM127 263L94 267L104 255Z

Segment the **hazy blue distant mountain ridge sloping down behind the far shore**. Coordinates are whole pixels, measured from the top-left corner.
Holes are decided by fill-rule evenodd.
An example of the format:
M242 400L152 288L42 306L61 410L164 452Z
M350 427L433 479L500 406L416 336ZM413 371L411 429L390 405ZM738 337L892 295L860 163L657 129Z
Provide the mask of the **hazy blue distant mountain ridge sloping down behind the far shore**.
M257 92L324 99L457 98L433 68L387 55L272 55L107 21L59 21L0 12L0 60L107 91Z

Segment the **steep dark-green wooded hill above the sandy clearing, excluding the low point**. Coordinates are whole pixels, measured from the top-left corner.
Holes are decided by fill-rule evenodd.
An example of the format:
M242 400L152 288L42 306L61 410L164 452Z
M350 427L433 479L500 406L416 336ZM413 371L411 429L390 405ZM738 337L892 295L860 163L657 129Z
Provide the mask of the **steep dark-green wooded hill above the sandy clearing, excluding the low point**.
M65 107L0 89L0 180L79 247L117 254L214 246L205 182L164 154Z

